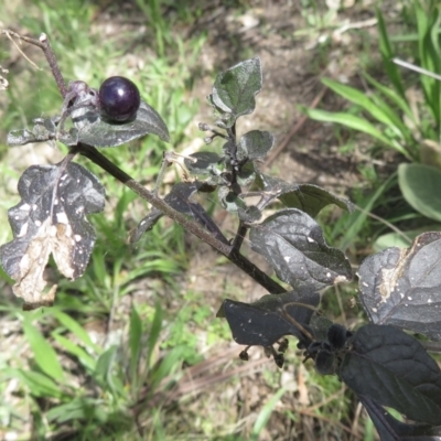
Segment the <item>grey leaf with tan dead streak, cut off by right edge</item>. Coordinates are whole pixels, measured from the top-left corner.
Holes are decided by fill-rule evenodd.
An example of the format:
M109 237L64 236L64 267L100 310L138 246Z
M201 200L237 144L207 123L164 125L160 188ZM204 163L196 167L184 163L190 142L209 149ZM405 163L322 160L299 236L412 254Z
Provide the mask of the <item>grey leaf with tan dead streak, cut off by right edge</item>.
M409 248L387 248L358 269L363 308L372 322L441 340L441 233L424 233Z

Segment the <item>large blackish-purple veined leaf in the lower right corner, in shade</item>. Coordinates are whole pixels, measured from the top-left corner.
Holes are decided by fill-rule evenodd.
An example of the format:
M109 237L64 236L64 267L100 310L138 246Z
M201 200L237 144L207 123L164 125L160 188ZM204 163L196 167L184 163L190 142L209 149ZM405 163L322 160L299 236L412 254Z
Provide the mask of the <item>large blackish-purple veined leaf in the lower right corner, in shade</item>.
M441 370L416 338L397 327L361 327L351 340L340 377L358 396L413 421L441 424Z

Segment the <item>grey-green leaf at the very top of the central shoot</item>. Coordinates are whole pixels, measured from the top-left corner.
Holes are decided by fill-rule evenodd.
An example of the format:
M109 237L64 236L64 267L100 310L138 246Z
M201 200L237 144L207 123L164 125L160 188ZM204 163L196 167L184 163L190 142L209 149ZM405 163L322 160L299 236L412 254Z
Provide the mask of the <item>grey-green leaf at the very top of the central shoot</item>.
M232 127L238 117L255 110L255 96L261 90L261 86L259 57L241 62L217 75L209 100L227 114L222 118L226 127Z

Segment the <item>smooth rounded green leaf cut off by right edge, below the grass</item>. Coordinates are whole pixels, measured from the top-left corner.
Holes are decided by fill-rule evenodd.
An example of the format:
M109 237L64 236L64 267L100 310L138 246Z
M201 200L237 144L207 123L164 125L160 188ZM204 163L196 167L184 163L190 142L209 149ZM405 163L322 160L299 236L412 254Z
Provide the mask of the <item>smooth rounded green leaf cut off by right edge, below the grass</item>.
M398 183L405 200L422 215L441 222L441 171L422 164L400 164Z

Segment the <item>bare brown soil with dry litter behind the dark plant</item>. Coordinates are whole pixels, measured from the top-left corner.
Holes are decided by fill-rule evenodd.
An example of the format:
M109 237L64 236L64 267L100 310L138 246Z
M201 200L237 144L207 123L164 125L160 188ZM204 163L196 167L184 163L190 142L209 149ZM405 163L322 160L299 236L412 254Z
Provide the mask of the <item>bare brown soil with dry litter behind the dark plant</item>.
M289 182L319 184L337 195L344 195L348 187L362 185L357 166L367 160L363 149L351 155L343 154L333 127L313 121L298 125L302 118L298 105L310 106L315 100L321 107L334 110L343 106L332 94L322 94L320 76L356 80L357 51L363 40L369 35L375 44L372 2L365 1L364 6L344 2L346 8L324 23L323 29L306 23L305 11L310 14L314 11L300 8L297 1L249 1L240 8L222 3L206 2L201 18L181 30L183 35L198 32L208 35L201 53L193 95L204 100L217 72L247 57L259 56L263 66L263 89L257 99L257 110L241 119L238 130L240 133L261 129L276 135L277 154L270 157L268 171ZM323 18L329 11L320 3L315 13ZM105 14L103 20L106 20ZM344 25L354 23L357 23L355 29L343 32ZM301 36L294 37L294 34ZM326 44L323 43L325 39L329 39ZM211 122L211 115L209 107L203 104L200 115L189 126L189 139L178 147L178 151L203 147L195 127L200 121ZM47 160L50 154L43 150L41 161ZM21 160L23 158L13 161ZM220 211L216 211L215 219L233 236L234 223L228 224ZM206 246L190 237L187 241L193 252L187 275L180 280L182 291L203 293L213 314L222 298L250 301L266 293L230 265L217 265L218 256ZM258 260L258 265L266 266L262 260ZM146 281L140 282L140 291L143 289ZM179 313L179 304L174 306ZM207 424L214 427L213 432L219 433L219 439L232 432L249 439L256 416L280 386L286 387L286 392L259 440L363 439L364 422L359 420L357 402L344 396L344 388L337 381L334 396L324 396L318 376L295 361L295 354L282 370L267 362L258 348L250 352L251 361L244 364L237 359L240 349L233 342L220 347L205 347L203 330L195 326L195 332L201 333L201 351L206 365L201 372L187 369L187 375L176 386L170 420L180 439L186 439L193 432L194 437L201 435ZM347 402L351 416L342 410ZM321 409L326 409L324 417L321 417ZM176 416L182 417L180 422Z

